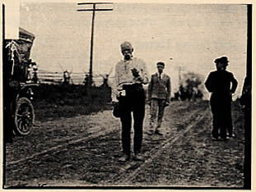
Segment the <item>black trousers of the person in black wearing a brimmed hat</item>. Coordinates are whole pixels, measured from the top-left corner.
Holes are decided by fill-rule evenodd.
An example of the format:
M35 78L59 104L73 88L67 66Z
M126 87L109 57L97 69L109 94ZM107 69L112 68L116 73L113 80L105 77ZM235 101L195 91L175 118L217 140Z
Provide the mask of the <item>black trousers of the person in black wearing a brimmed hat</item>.
M231 96L229 94L212 94L210 104L212 109L212 136L226 138L226 132L232 135L233 122L231 116Z

